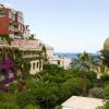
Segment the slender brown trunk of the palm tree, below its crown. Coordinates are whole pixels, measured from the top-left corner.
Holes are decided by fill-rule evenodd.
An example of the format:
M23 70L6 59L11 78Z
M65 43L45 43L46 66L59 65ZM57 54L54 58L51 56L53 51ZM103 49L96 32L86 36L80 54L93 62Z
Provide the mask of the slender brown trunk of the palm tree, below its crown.
M87 73L84 71L83 72L83 96L86 96L87 92Z

